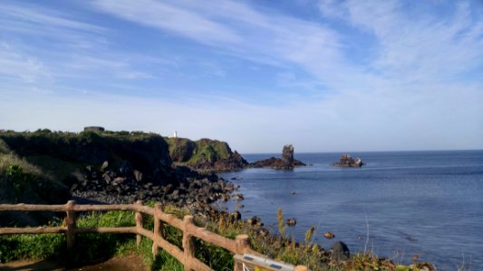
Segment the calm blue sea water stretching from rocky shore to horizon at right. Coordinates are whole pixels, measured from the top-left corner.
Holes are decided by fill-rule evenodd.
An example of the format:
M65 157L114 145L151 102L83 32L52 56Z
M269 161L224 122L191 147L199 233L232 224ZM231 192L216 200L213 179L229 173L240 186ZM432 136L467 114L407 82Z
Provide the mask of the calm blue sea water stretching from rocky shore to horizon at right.
M254 162L278 155L244 157ZM237 177L232 182L245 196L242 216L261 217L274 232L282 208L285 219L297 220L288 234L302 240L315 226L314 241L324 248L342 240L352 252L372 249L396 262L411 263L419 254L439 270L483 270L483 151L353 153L366 165L331 166L339 156L295 154L312 165L221 176ZM336 238L325 239L327 230Z

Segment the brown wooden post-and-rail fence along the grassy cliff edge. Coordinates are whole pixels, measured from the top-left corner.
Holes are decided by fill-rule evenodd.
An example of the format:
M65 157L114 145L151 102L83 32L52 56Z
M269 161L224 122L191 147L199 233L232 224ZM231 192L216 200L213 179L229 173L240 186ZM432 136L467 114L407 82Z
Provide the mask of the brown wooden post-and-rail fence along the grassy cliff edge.
M67 248L73 246L74 236L77 233L130 233L136 234L138 246L142 237L152 240L152 254L158 255L159 248L166 250L171 256L179 260L185 270L212 270L209 266L195 257L195 243L193 238L200 238L210 244L227 249L234 254L235 271L242 271L242 263L237 260L244 254L254 254L262 256L248 244L248 236L238 235L235 240L219 236L208 229L199 228L194 224L193 216L185 216L183 220L178 219L172 214L163 212L161 204L156 203L154 208L144 206L142 201L134 204L116 205L87 205L75 204L75 201L68 201L63 205L34 205L34 204L0 204L0 211L59 211L65 212L65 223L63 227L38 227L38 228L0 228L0 235L6 234L43 234L43 233L64 233ZM78 228L76 227L76 213L80 211L92 210L130 210L135 212L136 226L120 228ZM143 214L154 217L154 229L150 231L143 227ZM165 223L180 229L183 232L182 250L169 243L162 235ZM295 266L295 271L308 270L306 266Z

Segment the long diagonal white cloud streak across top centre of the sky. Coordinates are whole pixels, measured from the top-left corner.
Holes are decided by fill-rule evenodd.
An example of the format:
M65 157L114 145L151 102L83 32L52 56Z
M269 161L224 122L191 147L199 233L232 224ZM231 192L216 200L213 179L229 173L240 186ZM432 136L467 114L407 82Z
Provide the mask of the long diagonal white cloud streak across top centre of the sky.
M264 14L235 1L101 0L95 6L132 22L210 44L239 58L302 65L320 79L340 78L337 71L353 70L344 64L338 34L333 30L284 14ZM182 21L171 21L174 14ZM205 33L206 29L211 33Z

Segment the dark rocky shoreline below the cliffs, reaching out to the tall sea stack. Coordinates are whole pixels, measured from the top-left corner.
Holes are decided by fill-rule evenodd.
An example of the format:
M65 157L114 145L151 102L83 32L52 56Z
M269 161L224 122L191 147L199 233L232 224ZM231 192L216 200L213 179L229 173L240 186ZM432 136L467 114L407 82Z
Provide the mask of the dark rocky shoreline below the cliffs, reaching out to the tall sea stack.
M243 199L243 195L235 195L237 187L232 182L218 177L214 172L246 168L290 170L305 165L294 159L293 145L284 146L282 158L271 157L252 164L246 163L237 152L230 153L228 157L228 160L215 161L214 164L218 164L215 167L208 160L200 160L196 170L193 166L173 163L169 169L164 169L165 178L162 179L151 177L159 173L142 173L127 162L120 167L111 167L108 161L104 161L101 166L88 165L83 172L72 173L74 178L70 192L72 200L79 203L128 204L139 200L156 201L188 207L206 216L223 212L212 206L214 202L227 202L234 196L237 200ZM237 212L232 216L239 219L240 214ZM256 221L256 218L251 221ZM255 224L260 224L257 221Z

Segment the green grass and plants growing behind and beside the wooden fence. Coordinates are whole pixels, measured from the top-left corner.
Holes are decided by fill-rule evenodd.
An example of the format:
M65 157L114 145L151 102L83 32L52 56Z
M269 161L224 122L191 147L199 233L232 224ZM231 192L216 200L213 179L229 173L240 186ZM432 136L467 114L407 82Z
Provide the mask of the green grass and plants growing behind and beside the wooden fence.
M149 204L152 206L152 203ZM188 210L171 206L164 211L182 218ZM282 211L278 215L283 220ZM285 237L285 225L280 223L277 236L261 236L258 229L241 222L228 223L226 218L219 220L196 219L199 227L205 227L212 232L235 238L238 234L248 234L250 246L256 251L293 265L308 266L311 270L423 270L425 263L414 263L410 266L395 265L389 259L379 258L372 253L355 254L345 262L333 262L329 254L320 246L313 243L314 229L307 230L305 240L295 243ZM57 226L61 220L53 220L51 226ZM78 227L130 227L134 226L134 214L130 211L86 212L80 216ZM153 229L153 220L145 216L145 228ZM166 225L162 234L170 243L181 247L182 232ZM231 270L233 255L223 248L207 244L195 238L196 257L215 270ZM92 264L106 260L113 256L136 253L144 258L146 265L153 270L183 270L177 259L159 248L156 258L151 254L152 241L143 238L140 247L136 246L132 235L113 234L78 234L75 236L72 259L78 265ZM16 259L60 259L66 258L66 245L63 234L43 235L14 235L0 236L0 262L5 263ZM430 265L429 265L430 266Z

